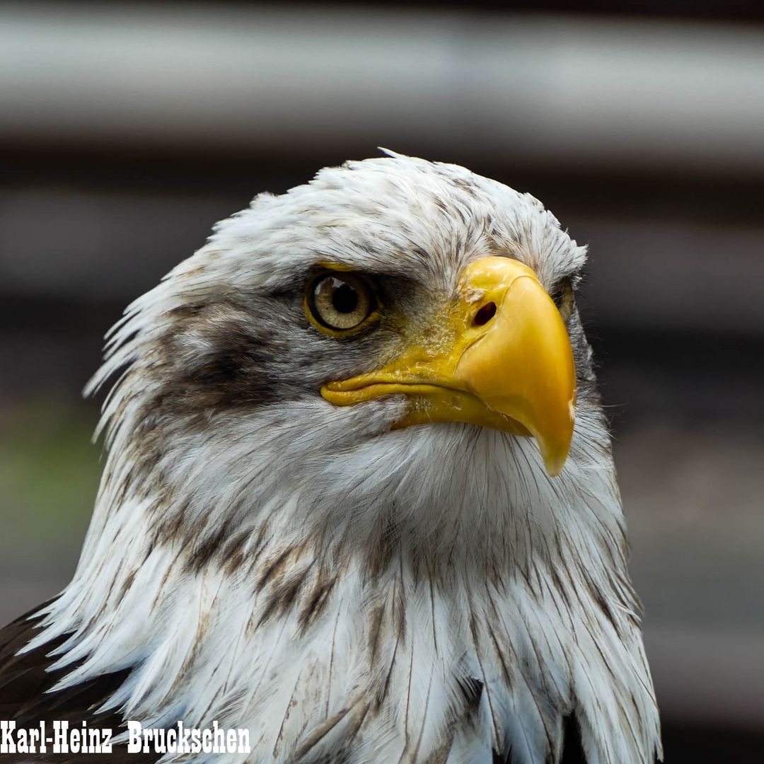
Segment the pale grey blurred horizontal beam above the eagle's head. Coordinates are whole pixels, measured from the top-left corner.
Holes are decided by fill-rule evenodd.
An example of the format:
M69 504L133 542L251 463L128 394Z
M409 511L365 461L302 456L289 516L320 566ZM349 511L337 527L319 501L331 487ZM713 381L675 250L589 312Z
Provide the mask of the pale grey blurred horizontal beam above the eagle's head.
M415 146L764 172L764 31L364 6L16 5L0 140L215 153Z

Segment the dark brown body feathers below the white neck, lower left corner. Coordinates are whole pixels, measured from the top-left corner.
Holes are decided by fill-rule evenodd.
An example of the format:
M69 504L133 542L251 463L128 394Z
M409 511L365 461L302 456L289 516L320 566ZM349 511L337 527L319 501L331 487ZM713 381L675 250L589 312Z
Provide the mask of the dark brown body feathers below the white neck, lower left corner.
M40 606L42 607L42 606ZM47 671L57 659L48 655L53 649L63 644L68 635L51 639L49 643L37 649L17 655L18 651L36 636L40 618L31 613L17 618L0 630L0 719L15 720L18 728L38 727L40 721L47 722L52 729L53 720L66 720L71 726L79 727L86 721L88 727L111 728L116 736L125 725L121 714L108 711L96 714L97 709L125 681L130 669L105 674L90 681L57 692L47 692L75 665L59 671ZM82 755L53 755L48 746L46 755L42 754L4 754L2 764L11 762L47 762L59 764L81 762ZM89 754L87 760L92 764L148 764L155 762L157 754L129 754L124 747L115 746L110 754Z

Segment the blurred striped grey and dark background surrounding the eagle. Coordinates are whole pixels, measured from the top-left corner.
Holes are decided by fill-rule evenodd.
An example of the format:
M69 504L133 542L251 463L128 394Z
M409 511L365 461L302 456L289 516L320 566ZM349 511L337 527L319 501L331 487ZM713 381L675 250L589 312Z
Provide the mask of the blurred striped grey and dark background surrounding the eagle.
M590 246L669 762L764 749L764 7L0 5L0 618L73 572L79 393L123 307L262 190L377 146Z

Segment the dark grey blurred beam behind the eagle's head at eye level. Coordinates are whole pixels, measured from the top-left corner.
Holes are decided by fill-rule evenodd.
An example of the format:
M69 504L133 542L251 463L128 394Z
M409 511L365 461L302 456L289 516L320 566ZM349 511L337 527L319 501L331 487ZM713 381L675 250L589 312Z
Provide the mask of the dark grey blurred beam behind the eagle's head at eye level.
M248 201L223 191L0 189L0 292L127 303L199 248L216 220ZM761 225L581 212L567 212L562 222L580 244L591 243L588 321L623 329L764 332Z

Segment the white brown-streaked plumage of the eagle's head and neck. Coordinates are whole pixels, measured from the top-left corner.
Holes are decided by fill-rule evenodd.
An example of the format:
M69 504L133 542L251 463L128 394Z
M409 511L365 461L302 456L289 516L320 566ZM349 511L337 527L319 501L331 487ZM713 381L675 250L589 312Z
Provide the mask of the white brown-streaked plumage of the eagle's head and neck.
M69 635L57 688L131 669L102 710L246 727L253 752L231 762L557 761L566 717L591 764L660 756L577 316L581 394L558 478L532 439L459 423L389 432L398 397L332 406L313 356L296 365L304 392L279 397L277 380L262 405L195 410L167 389L232 326L282 332L266 365L320 340L329 374L351 370L288 325L300 306L270 322L250 309L316 261L416 273L447 294L465 263L497 251L548 288L584 262L533 197L395 155L258 196L136 300L89 386L121 373L82 558L26 648Z

